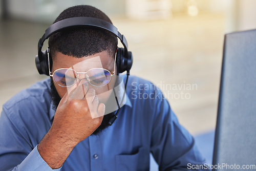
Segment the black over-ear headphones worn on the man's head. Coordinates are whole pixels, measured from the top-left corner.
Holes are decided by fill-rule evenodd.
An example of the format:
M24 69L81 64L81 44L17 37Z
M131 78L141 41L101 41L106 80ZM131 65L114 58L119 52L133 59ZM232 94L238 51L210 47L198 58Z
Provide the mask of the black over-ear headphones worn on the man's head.
M48 58L51 59L49 48L45 51L41 51L44 41L48 39L52 34L72 28L90 28L90 29L102 29L107 30L114 34L121 40L124 48L118 48L116 52L116 67L119 73L127 71L129 74L133 65L132 52L128 51L127 41L115 26L98 18L93 17L73 17L60 20L54 23L48 29L45 34L38 41L38 55L35 57L35 65L39 74L45 74L49 76L49 63Z

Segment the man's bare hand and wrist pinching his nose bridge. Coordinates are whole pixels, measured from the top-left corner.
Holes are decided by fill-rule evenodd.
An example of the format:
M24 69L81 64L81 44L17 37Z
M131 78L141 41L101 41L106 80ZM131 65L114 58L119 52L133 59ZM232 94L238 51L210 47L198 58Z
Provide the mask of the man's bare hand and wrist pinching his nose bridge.
M51 168L59 168L72 149L99 127L104 112L95 90L80 82L60 100L52 127L37 146L41 157Z

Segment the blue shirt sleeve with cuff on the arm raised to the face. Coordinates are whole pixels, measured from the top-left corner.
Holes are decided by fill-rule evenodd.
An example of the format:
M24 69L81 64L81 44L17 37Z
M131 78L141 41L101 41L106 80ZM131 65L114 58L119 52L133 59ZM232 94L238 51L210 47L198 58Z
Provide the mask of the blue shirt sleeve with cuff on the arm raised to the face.
M0 116L0 163L1 170L60 170L52 169L41 158L37 145L31 143L20 134L17 125L8 118L3 109Z

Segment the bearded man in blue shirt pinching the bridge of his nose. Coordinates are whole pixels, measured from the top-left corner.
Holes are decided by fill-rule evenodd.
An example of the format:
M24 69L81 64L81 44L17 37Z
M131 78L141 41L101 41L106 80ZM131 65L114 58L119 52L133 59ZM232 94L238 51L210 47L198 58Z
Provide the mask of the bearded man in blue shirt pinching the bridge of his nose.
M111 23L91 6L71 7L54 23L72 17ZM96 28L71 28L50 36L51 77L3 105L1 170L148 170L150 153L159 170L187 170L189 163L204 163L193 137L149 81L129 78L125 104L108 126L116 111L104 115L108 106L102 101L110 95L100 95L106 92L102 89L110 90L110 82L98 86L91 79L95 73L88 75L95 68L118 75L116 47L116 36ZM72 74L75 80L69 78Z

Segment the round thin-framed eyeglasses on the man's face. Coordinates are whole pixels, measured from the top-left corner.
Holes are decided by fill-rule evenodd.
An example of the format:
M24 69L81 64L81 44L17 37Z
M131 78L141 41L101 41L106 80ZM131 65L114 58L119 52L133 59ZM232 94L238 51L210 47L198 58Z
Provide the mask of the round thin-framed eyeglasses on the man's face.
M48 55L49 61L49 55ZM115 75L115 67L116 67L116 56L115 56L115 64L114 64L114 71L111 72L109 70L103 68L92 68L87 72L77 72L71 68L60 68L53 72L50 71L50 62L49 62L49 75L53 77L53 80L60 86L60 87L71 87L73 86L79 76L84 75L88 82L95 87L101 87L108 84L111 80L111 77Z

